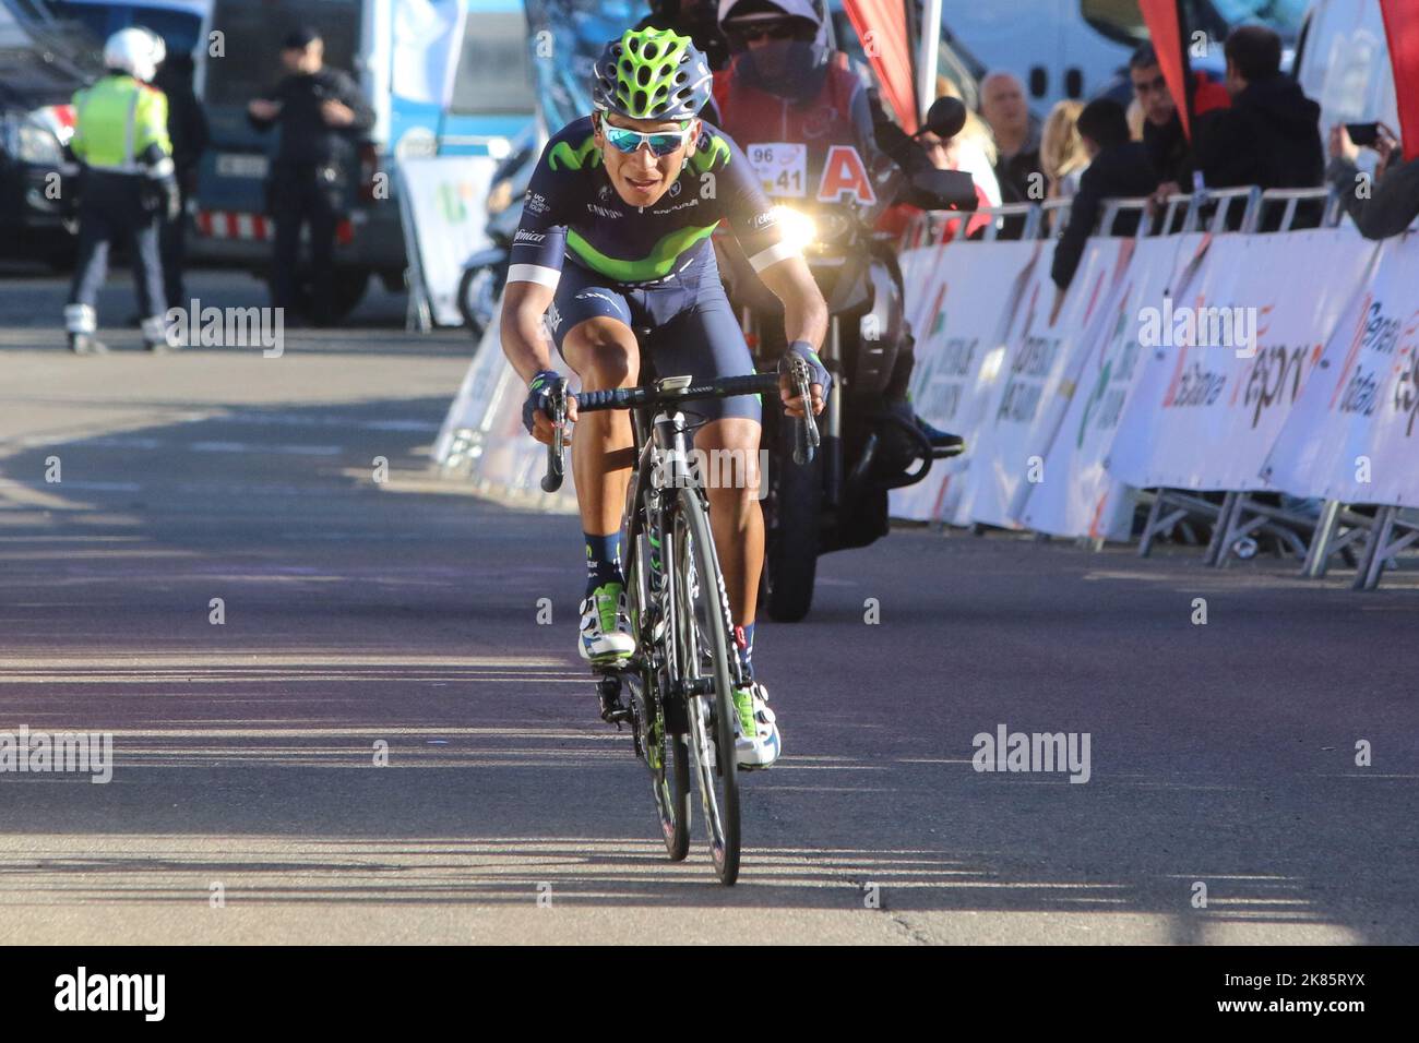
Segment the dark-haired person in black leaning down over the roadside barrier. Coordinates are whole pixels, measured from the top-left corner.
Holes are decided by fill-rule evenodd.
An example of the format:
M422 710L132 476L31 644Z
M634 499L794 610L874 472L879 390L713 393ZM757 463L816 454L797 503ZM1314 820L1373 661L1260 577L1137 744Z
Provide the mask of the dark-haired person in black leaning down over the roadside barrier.
M1124 106L1110 98L1098 98L1078 114L1078 135L1090 155L1088 169L1080 179L1078 192L1070 206L1069 224L1054 247L1050 278L1060 294L1074 281L1084 244L1094 234L1105 199L1135 199L1148 196L1158 187L1158 172L1148 159L1142 142L1130 140L1128 115ZM1130 236L1138 230L1138 214L1115 221L1105 233ZM1056 301L1057 307L1059 301Z

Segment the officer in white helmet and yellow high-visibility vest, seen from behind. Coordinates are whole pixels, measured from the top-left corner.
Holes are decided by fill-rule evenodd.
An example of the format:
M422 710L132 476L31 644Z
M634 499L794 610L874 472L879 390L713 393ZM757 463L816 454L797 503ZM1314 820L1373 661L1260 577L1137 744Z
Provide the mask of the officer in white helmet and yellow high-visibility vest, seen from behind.
M133 243L143 342L149 351L167 346L158 224L165 214L176 214L179 197L167 139L167 99L150 87L163 54L163 41L148 30L119 30L104 45L108 75L74 95L70 149L82 165L82 180L78 270L64 325L70 349L78 355L108 351L94 338L95 305L115 238Z

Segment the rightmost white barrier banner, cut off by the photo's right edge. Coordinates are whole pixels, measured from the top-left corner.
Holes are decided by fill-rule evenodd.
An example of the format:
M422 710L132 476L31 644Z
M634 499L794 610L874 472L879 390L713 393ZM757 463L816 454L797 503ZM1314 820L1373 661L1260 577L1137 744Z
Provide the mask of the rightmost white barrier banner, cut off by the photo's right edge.
M1381 245L1266 471L1298 497L1419 505L1419 236Z

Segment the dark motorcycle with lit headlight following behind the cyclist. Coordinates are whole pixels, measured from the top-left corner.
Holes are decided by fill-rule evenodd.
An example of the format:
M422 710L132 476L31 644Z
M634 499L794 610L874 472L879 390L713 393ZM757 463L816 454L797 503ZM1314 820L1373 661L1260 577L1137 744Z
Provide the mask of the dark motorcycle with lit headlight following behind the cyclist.
M965 108L954 98L939 99L927 116L927 128L942 139L954 138L964 123ZM894 203L973 210L975 184L966 173L922 169L911 177L894 170L881 187L874 204L816 203L779 211L827 302L820 358L834 387L819 417L820 450L806 464L793 463L795 424L782 410L763 412L769 474L759 600L778 622L807 616L819 555L887 535L888 491L921 481L934 458L959 453L959 447L932 447L910 410L904 416L885 409L884 390L911 331L894 244L873 228ZM758 295L739 294L739 304L756 362L772 365L785 349L782 308L762 288Z

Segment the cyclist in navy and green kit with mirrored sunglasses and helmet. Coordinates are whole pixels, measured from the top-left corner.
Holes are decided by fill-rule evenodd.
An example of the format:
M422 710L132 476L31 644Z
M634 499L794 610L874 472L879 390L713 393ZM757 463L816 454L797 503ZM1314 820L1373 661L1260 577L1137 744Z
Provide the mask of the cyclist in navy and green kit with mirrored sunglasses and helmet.
M595 67L595 111L543 148L512 241L502 302L502 349L528 382L522 419L551 441L546 331L585 390L634 386L640 355L633 328L661 376L697 380L753 373L753 360L719 282L710 236L727 221L759 278L783 302L790 356L812 369L810 403L780 379L785 412L822 412L832 377L817 358L827 307L797 248L739 148L697 114L711 74L688 37L627 30ZM773 763L782 749L765 687L752 681L753 617L763 565L756 397L697 403L695 448L728 450L745 463L746 488L710 488L710 524L724 572L735 646L751 683L735 692L736 759ZM576 420L575 400L568 419ZM586 539L580 653L614 663L633 651L620 563L622 504L630 480L630 417L595 413L578 424L572 473Z

